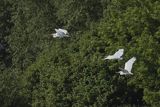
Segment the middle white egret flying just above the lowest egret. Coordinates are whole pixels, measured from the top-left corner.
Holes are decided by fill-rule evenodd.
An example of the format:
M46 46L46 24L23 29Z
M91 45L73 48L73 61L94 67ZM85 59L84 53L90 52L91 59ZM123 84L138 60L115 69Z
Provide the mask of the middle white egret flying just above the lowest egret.
M122 60L122 55L124 53L124 49L119 49L115 54L113 55L108 55L107 57L104 58L104 60L106 59L118 59L118 60Z

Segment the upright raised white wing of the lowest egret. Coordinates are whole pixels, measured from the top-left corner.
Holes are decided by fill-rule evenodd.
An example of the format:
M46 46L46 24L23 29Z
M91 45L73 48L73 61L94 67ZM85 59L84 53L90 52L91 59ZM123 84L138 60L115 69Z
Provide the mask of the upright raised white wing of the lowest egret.
M136 57L132 57L125 63L124 69L127 70L129 73L131 73L131 69L133 66L133 63L136 61Z

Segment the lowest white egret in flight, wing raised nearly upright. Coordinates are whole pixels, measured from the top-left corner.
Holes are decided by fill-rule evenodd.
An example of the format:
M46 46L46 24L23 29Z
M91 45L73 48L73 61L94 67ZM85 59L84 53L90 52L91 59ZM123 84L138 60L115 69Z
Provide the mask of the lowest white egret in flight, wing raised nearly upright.
M117 72L120 75L133 75L133 73L131 72L132 70L132 66L133 63L136 61L136 57L132 57L131 59L129 59L126 63L125 63L125 67L123 68L119 68L121 71Z

